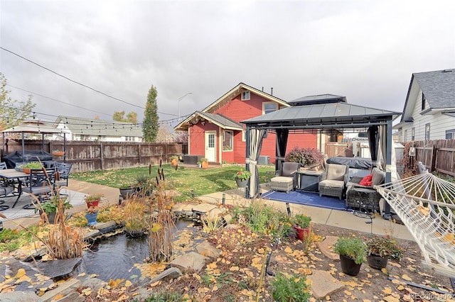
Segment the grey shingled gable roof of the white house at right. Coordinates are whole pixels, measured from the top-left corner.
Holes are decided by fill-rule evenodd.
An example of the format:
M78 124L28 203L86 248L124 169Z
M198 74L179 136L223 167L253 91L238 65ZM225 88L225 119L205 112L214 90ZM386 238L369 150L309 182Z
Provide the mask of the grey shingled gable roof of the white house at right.
M411 77L400 123L412 121L420 90L429 106L428 111L455 111L455 69L416 72Z

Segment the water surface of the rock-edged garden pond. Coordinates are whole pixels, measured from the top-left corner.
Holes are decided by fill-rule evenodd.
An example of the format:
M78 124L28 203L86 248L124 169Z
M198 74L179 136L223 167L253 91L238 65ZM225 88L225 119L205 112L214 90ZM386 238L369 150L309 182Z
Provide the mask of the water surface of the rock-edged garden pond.
M193 225L193 221L176 221L176 231ZM110 279L130 279L141 276L136 263L143 263L149 257L149 237L130 238L125 234L97 240L82 256L82 263L76 273L97 274L103 281Z

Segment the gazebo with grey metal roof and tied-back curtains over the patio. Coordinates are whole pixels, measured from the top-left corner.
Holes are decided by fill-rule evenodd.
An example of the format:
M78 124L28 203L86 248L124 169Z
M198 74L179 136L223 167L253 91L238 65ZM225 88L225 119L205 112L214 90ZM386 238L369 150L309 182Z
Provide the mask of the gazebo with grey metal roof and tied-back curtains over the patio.
M385 157L385 182L390 182L391 172L396 169L392 167L392 120L400 114L336 101L291 106L242 121L246 125L246 166L247 170L252 173L248 184L248 197L252 198L259 194L257 160L261 152L262 138L264 138L267 130L277 133L277 161L275 165L277 169L280 169L282 162L284 162L290 130L323 131L339 128L368 128L370 145L372 140L378 140L380 152ZM370 147L373 165L379 166L378 151L375 149L375 147ZM390 205L388 203L385 206L384 217L390 218Z

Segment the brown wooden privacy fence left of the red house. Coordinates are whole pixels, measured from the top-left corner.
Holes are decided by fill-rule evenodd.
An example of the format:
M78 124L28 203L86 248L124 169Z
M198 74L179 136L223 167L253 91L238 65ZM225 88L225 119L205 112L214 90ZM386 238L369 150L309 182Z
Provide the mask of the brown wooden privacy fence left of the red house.
M169 162L172 155L182 154L182 143L146 143L146 142L66 142L66 162L73 164L71 172L87 172L95 170L143 167L149 164ZM5 150L1 148L1 157L11 152L22 151L21 140L6 140ZM55 140L26 140L25 150L43 150L51 153L53 150L63 150L63 141ZM53 160L63 161L63 157L53 157Z

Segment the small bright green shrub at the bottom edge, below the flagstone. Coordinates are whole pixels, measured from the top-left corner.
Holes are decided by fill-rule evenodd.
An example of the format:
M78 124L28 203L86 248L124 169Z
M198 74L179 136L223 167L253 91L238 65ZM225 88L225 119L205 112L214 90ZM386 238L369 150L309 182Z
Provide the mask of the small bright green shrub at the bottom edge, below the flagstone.
M274 301L304 302L310 298L309 286L304 275L286 276L279 272L270 282Z

